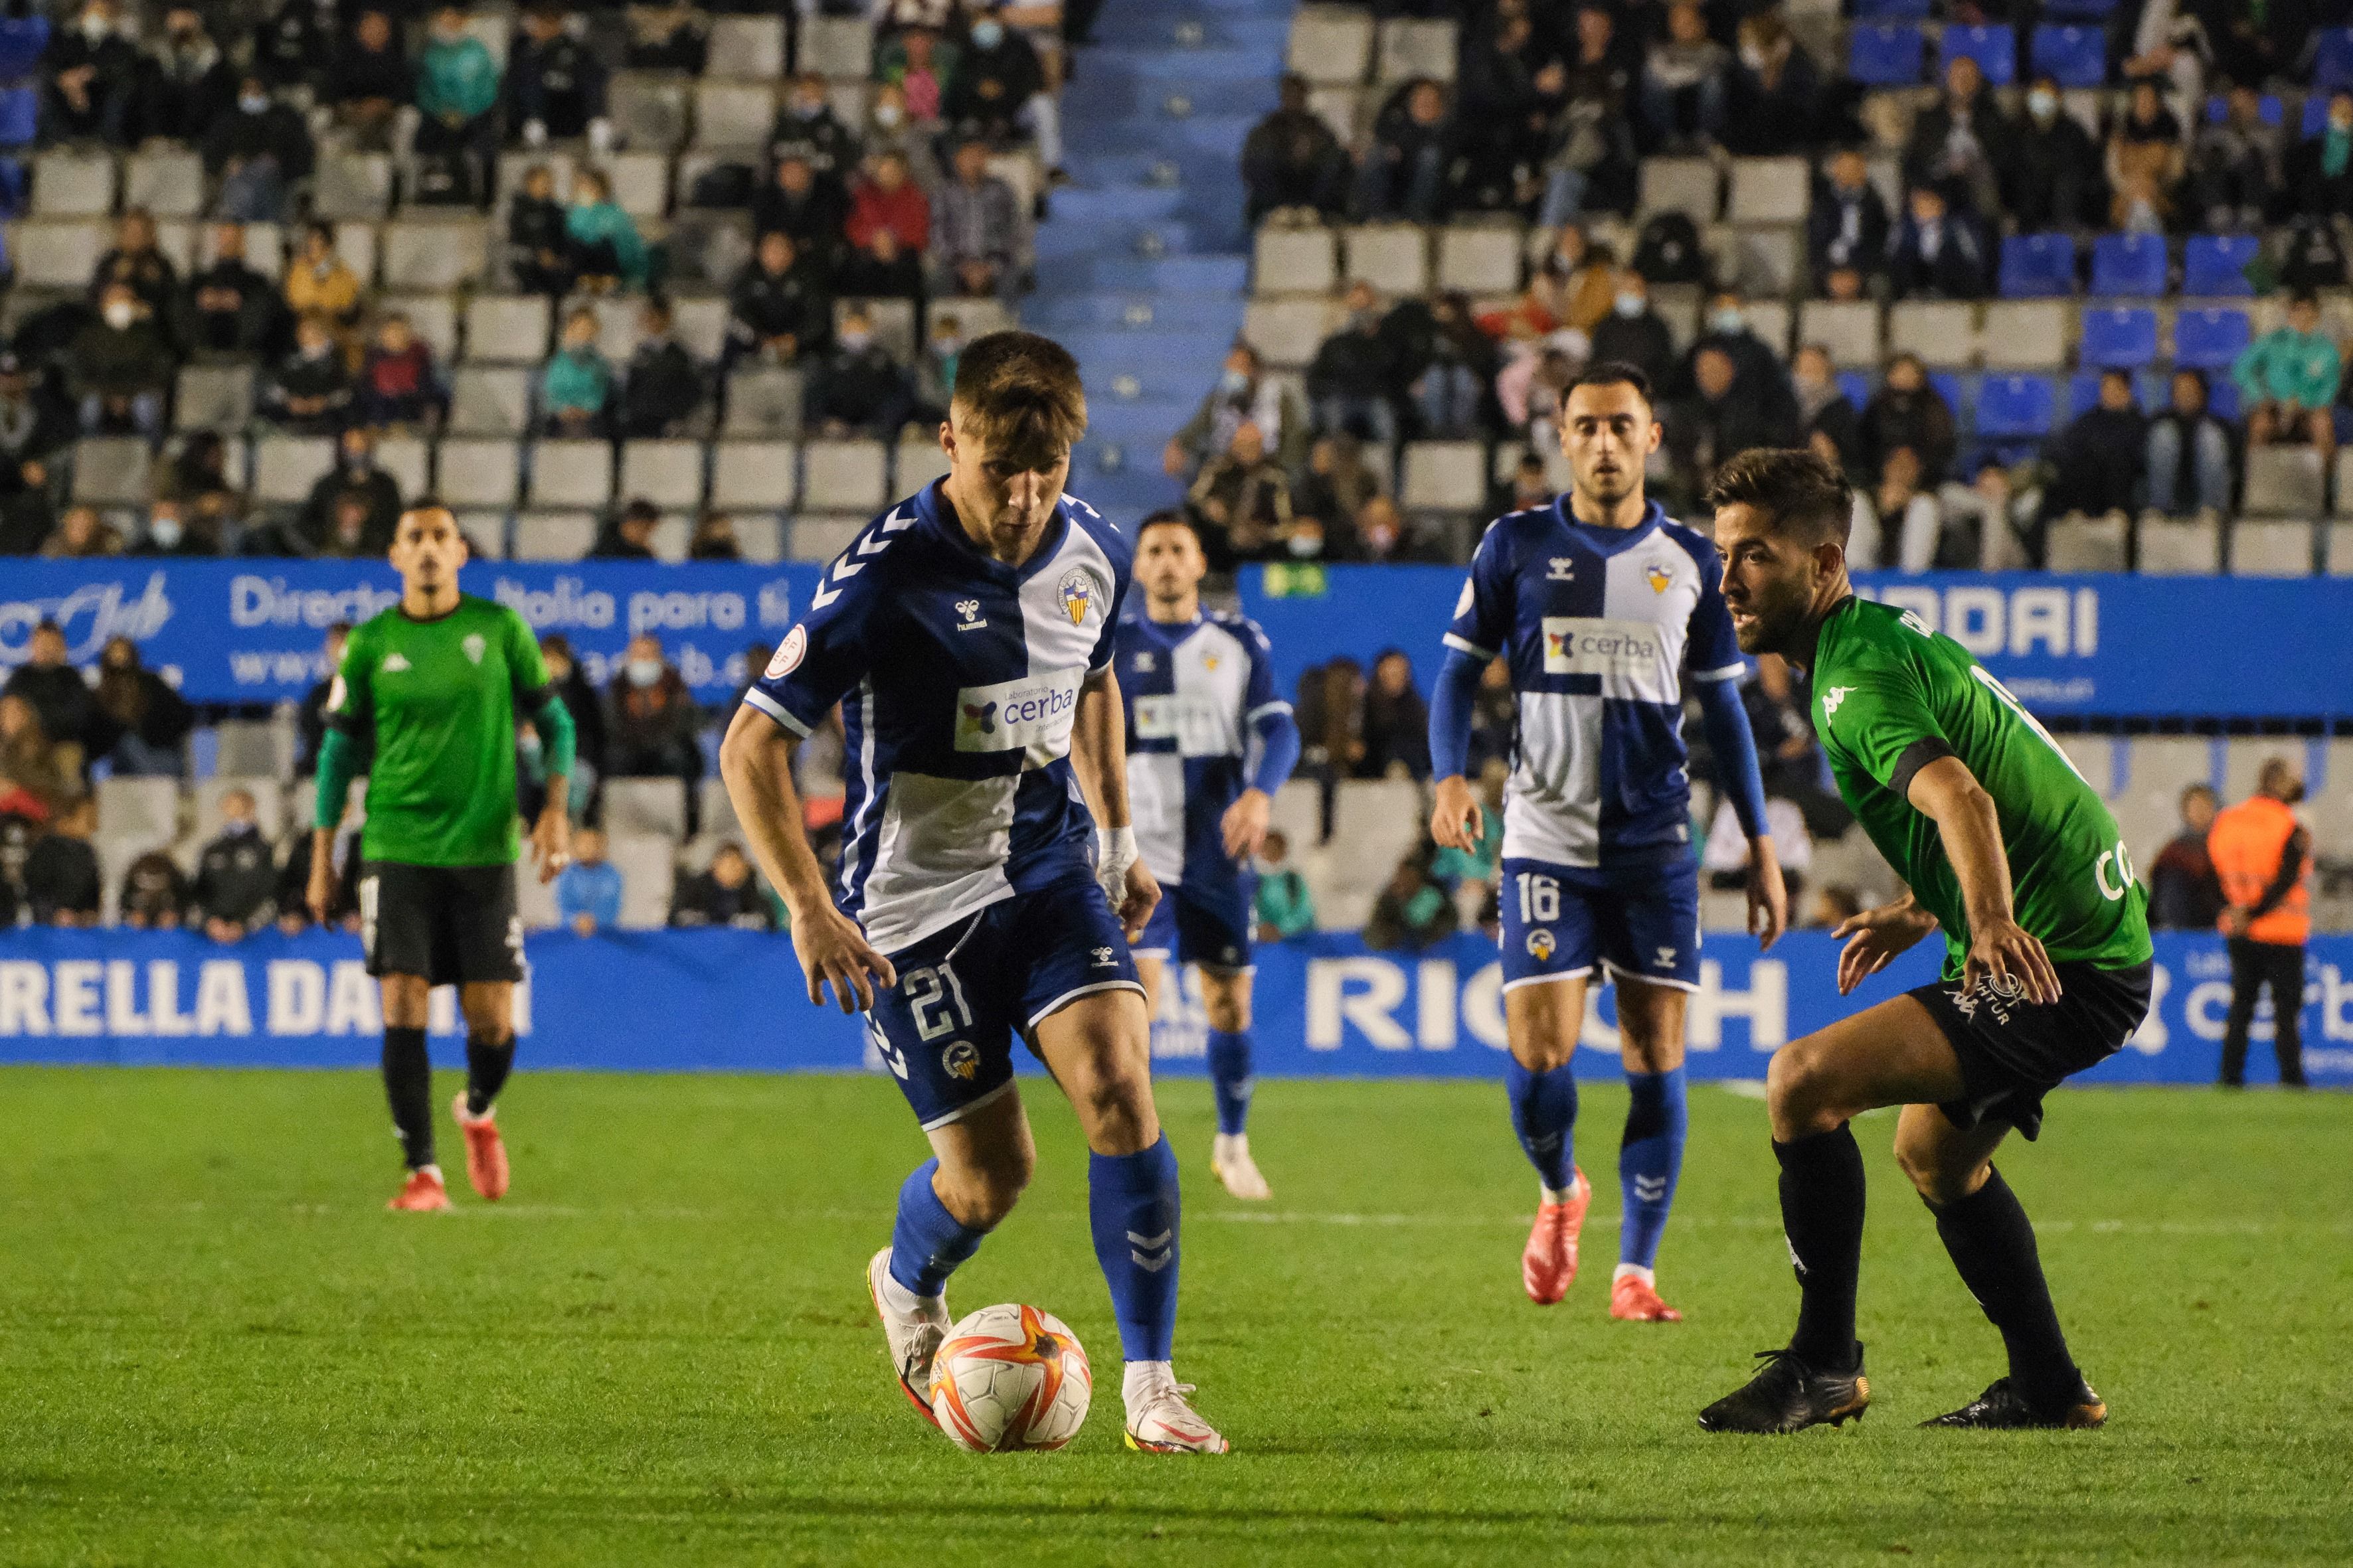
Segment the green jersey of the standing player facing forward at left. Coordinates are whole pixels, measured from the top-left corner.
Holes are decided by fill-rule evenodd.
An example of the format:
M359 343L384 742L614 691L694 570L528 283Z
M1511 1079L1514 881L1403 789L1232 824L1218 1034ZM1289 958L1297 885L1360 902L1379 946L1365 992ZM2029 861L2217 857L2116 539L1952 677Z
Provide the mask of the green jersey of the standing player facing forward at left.
M360 853L405 865L513 865L515 710L548 665L522 616L473 595L433 621L398 604L351 632L327 722L374 738Z

